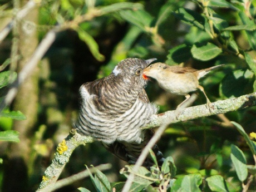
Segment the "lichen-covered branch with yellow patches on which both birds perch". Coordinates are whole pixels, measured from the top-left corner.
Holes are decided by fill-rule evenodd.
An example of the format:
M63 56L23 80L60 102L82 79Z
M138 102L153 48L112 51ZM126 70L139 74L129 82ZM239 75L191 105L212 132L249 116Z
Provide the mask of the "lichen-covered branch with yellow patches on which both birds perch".
M206 105L188 107L184 109L177 118L174 118L176 113L175 111L166 111L163 114L154 115L152 116L150 123L143 127L143 129L157 127L165 122L168 122L168 124L174 124L175 122L223 114L230 111L237 111L247 107L256 106L256 92L233 99L216 101L212 104L214 109L210 111ZM75 129L72 129L70 135L68 135L66 139L58 145L55 158L52 160L52 164L46 169L45 175L43 176L42 182L37 191L42 192L52 189L63 168L70 159L73 150L75 150L79 145L85 145L93 141L95 140L92 137L80 135L75 131Z

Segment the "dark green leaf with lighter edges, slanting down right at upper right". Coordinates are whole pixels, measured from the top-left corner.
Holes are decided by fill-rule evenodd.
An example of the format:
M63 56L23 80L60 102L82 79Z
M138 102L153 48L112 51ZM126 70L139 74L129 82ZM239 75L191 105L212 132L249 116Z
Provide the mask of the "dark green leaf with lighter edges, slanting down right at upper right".
M179 8L176 12L173 12L173 14L175 17L179 18L181 21L187 24L190 24L191 26L195 26L201 30L210 32L210 26L206 18L195 11Z

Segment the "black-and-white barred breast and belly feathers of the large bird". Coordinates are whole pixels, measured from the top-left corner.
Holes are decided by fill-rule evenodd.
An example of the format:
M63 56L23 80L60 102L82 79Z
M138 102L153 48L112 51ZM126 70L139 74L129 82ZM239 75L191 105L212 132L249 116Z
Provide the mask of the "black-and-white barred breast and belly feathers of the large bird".
M112 91L116 91L117 96L122 96L121 89L118 87ZM141 88L141 91L142 97L144 97L143 94L146 94L144 89ZM106 102L111 101L106 109L109 112L100 109L98 96L90 94L86 86L81 86L80 95L80 115L75 125L77 130L106 144L111 144L114 141L140 144L144 140L144 132L140 127L146 125L150 121L150 117L157 112L157 107L141 100L139 94L136 99L126 97L125 103L115 100L115 97L106 98L108 99ZM96 103L98 105L95 105ZM124 110L121 110L122 107Z

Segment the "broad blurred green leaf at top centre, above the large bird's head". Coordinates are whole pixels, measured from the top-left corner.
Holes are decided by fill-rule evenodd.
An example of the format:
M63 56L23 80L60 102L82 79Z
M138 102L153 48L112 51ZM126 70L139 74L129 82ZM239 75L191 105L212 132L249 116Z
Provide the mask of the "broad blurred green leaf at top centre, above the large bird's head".
M144 10L120 11L120 16L124 18L127 22L139 27L144 32L149 32L151 23L154 20L154 18Z

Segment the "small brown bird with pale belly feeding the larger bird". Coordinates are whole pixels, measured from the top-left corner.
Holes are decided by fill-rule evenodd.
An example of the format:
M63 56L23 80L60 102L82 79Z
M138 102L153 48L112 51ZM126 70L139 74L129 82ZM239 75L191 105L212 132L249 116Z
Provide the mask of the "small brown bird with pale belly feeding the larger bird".
M169 66L165 63L154 63L153 65L145 68L143 78L154 78L159 86L164 90L174 93L175 95L185 95L185 101L190 97L189 92L199 89L204 93L208 107L211 107L211 102L206 96L204 88L199 85L199 79L211 70L223 65L209 67L203 70L196 70L191 67ZM185 101L183 101L179 106L184 104Z

